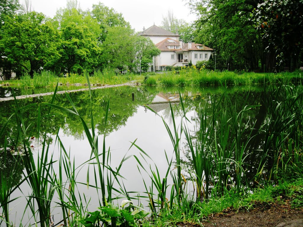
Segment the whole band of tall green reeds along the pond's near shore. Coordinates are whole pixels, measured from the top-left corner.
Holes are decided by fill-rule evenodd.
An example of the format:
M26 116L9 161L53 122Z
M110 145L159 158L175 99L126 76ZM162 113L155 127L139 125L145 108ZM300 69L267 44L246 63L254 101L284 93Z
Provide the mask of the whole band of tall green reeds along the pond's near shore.
M206 76L206 74L204 74ZM90 88L89 75L85 73L85 77ZM227 77L225 75L225 77ZM263 81L266 81L263 78ZM240 82L238 82L240 83ZM264 83L266 84L266 82ZM223 87L223 86L222 86ZM15 100L15 113L8 119L16 119L18 129L14 140L12 141L15 151L17 147L22 144L26 155L22 156L25 164L24 179L14 186L13 179L4 179L1 175L2 192L0 192L1 209L5 215L5 222L10 226L11 219L9 219L9 203L17 198L10 199L13 191L15 191L24 181L32 189L32 193L27 197L28 207L32 211L36 225L37 220L41 226L49 225L51 220L51 205L62 209L62 222L65 226L79 225L78 219L88 215L88 204L86 201L87 195L82 195L77 185L85 184L88 187L95 188L99 195L100 206L107 206L108 203L113 203L115 199L128 198L129 192L125 189L123 184L124 179L121 176L121 167L123 163L131 156L127 153L123 156L121 162L116 168L111 166L111 150L105 146L105 135L103 136L102 148L99 147L98 136L95 134L95 122L92 114L92 96L90 95L90 124L92 129L88 128L88 123L78 113L77 108L72 102L71 97L66 93L72 109L57 106L54 104L55 94L50 103L45 103L48 107L47 112L43 115L40 105L38 106L37 116L37 131L38 143L42 143L42 149L38 150L38 158L35 159L29 138L32 135L33 129L31 125L25 125L23 110L25 108L33 107L31 104L27 107L20 108L17 100ZM250 122L246 116L248 111L259 108L259 105L249 106L244 102L244 107L239 112L236 111L236 105L233 104L226 91L226 85L222 88L223 94L217 98L212 95L210 107L208 105L199 104L194 117L195 130L189 130L191 121L186 117L187 109L184 106L184 101L180 94L180 105L178 116L181 117L179 125L176 123L177 113L170 105L171 112L171 126L165 122L161 117L168 137L174 150L173 156L175 159L175 169L172 168L173 159L168 158L167 170L162 175L158 167L151 165L150 158L146 152L138 147L134 141L132 146L136 146L140 150L140 155L149 167L145 167L142 161L135 156L139 171L142 168L150 179L151 186L148 187L148 180L143 179L146 193L148 196L139 196L141 198L148 198L150 201L151 210L154 213L161 213L161 215L171 215L169 212L179 212L180 215L186 215L188 219L191 217L205 213L209 208L205 202L214 202L217 210L232 206L235 195L239 196L245 192L250 186L252 179L249 179L247 174L248 157L251 157L252 149L251 140L255 136L261 136L260 150L261 160L254 165L258 172L253 180L260 182L260 180L276 180L279 176L295 177L295 175L303 176L302 169L302 141L303 141L303 88L302 85L285 85L278 88L271 87L270 92L265 91L265 105L267 113L265 121L260 129L255 129L255 122ZM249 98L249 95L248 97ZM105 114L105 126L108 124L110 102L108 101ZM52 116L51 110L56 109L65 113L72 113L81 121L90 144L90 159L85 161L80 166L75 166L75 159L72 160L70 152L67 152L63 143L58 136L59 129L56 134L56 141L60 150L60 158L58 160L59 170L54 169L50 152L50 140L47 138L47 132L41 133L40 128L42 122L47 122ZM5 127L0 130L0 136L5 132ZM188 150L191 155L190 163L184 166L182 163L182 143L181 137L185 136L188 144ZM41 136L40 136L41 134ZM42 140L41 140L41 138ZM7 140L5 139L5 147ZM5 148L4 147L4 148ZM166 153L165 153L166 154ZM148 157L149 159L145 159ZM5 163L5 159L4 163ZM16 159L17 160L17 159ZM15 166L20 165L18 161ZM87 166L87 173L94 171L95 185L92 185L91 180L87 177L87 182L77 182L76 171ZM191 167L192 166L192 167ZM192 176L191 180L196 186L196 200L192 198L185 190L185 176L184 171L190 169L189 173ZM266 173L266 169L269 172ZM175 170L175 171L174 171ZM169 174L170 173L170 174ZM168 182L170 179L173 185L170 188ZM115 188L115 184L119 189ZM154 190L155 189L155 190ZM156 192L156 193L155 193ZM118 193L115 195L114 193ZM233 196L231 196L233 195ZM58 202L55 202L56 196ZM155 199L154 197L157 197ZM166 197L170 199L166 199ZM220 199L225 198L225 203ZM201 205L203 201L204 205ZM238 201L238 200L237 200ZM224 205L222 205L224 203ZM158 211L156 205L158 205ZM206 205L205 205L206 204ZM38 206L38 208L36 207ZM26 209L26 208L25 208ZM166 211L168 211L166 213ZM180 212L182 211L182 212ZM25 212L25 211L24 211ZM210 211L209 211L210 212ZM36 215L38 214L38 217ZM58 223L59 224L59 223Z

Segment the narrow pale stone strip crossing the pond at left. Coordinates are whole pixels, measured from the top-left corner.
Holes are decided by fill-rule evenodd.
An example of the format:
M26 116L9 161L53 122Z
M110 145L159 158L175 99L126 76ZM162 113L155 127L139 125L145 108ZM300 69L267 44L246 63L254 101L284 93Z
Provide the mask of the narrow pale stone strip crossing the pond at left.
M138 83L136 83L136 81L130 81L130 82L127 82L125 84L115 84L115 85L104 85L104 86L99 86L99 87L91 87L91 90L103 89L103 88L109 88L109 87L136 86L136 85L138 85ZM63 91L57 91L56 94L64 94L65 92L71 93L71 92L86 91L86 90L88 90L88 88L82 88L82 89L76 89L76 90L63 90ZM20 96L16 96L16 99L34 98L34 97L53 95L53 94L54 94L54 92L41 93L41 94L30 94L30 95L20 95ZM14 97L0 98L0 102L8 101L8 100L14 100Z

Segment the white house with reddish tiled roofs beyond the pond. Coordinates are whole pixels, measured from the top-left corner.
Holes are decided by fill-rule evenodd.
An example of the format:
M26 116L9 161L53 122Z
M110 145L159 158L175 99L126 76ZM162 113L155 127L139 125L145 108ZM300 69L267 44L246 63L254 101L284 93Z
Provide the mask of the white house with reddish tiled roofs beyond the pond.
M151 71L164 70L166 66L188 66L191 61L207 61L213 49L198 43L183 43L179 40L178 32L172 33L156 25L145 29L138 35L149 37L156 47L161 50L161 54L153 60Z

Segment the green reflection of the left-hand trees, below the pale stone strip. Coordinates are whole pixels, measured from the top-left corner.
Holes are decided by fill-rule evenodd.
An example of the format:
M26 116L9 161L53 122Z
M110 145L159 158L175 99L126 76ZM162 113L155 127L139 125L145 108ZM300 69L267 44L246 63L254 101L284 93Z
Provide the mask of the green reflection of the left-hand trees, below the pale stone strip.
M135 94L135 101L132 101L132 93ZM87 122L88 127L90 126L90 103L89 103L89 93L85 92L74 92L70 93L75 107L78 113ZM98 134L109 134L114 130L118 130L120 127L125 125L127 119L137 111L139 105L144 105L154 98L153 92L147 91L146 89L138 89L138 87L117 87L110 89L100 89L92 91L92 112L94 123L96 124L96 130ZM110 111L108 116L108 123L106 128L104 128L105 119L105 109L108 99L110 99ZM37 103L37 105L31 107L30 109L22 110L22 115L25 120L25 125L30 125L30 130L32 130L32 135L36 137L37 135L37 116L38 116L38 105L41 107L41 115L47 114L48 107L43 102L50 102L51 96L43 96L36 98L28 98L18 100L20 107L25 107L29 104ZM65 94L57 95L55 98L55 104L73 109L72 105L69 103ZM7 101L2 102L0 105L0 124L4 125L7 119L15 111L15 102ZM52 113L58 113L48 118L47 123L42 123L40 126L41 132L47 130L48 133L55 134L60 126L66 135L74 136L76 139L83 139L83 126L81 121L74 114L68 114L65 112L60 112L58 110L52 109ZM3 146L3 141L5 135L10 138L14 137L14 133L17 132L17 126L15 123L15 118L12 117L8 122L5 129L5 133L0 138L0 146ZM43 122L43 121L42 121ZM47 128L46 128L47 127ZM10 142L11 140L9 140Z

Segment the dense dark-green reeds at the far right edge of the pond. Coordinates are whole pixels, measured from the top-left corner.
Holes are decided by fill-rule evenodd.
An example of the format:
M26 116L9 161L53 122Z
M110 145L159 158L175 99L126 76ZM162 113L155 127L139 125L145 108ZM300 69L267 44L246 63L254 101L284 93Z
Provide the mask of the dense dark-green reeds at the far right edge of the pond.
M289 163L302 152L303 128L303 88L302 85L281 85L271 88L266 99L268 121L264 124L265 145L258 178L261 178L265 165L271 167L267 178L277 180L279 171L286 173ZM269 158L268 158L269 157ZM282 169L280 169L280 167Z

